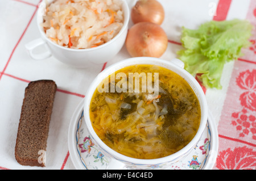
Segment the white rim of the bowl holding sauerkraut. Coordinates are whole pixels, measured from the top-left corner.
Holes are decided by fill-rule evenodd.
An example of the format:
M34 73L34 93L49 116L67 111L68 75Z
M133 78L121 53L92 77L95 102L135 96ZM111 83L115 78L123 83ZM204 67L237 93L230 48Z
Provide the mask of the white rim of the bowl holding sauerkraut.
M41 2L41 3L44 3L46 1L47 0L43 0L43 2ZM51 3L52 1L53 0L50 0L49 2ZM50 43L50 44L52 44L56 47L59 47L61 49L68 50L68 51L73 51L73 52L89 52L89 51L92 51L92 50L101 49L101 48L104 48L104 47L108 46L109 44L112 44L114 41L118 40L118 37L121 36L122 33L125 32L127 27L128 27L128 23L129 23L129 20L130 20L129 6L128 6L126 0L119 0L119 1L122 1L122 9L123 9L123 16L124 16L123 26L122 26L121 30L117 33L117 35L115 35L115 37L113 37L113 39L109 40L108 42L106 42L106 43L104 43L104 44L102 44L98 47L84 48L84 49L73 49L73 48L63 47L63 46L58 45L58 44L54 43L53 41L51 41L46 36L46 33L43 32L42 26L40 25L40 23L42 22L42 16L43 16L43 15L40 15L40 13L42 13L42 9L44 8L43 6L39 6L39 9L38 9L38 12L37 12L37 17L36 17L37 18L36 19L36 24L38 26L38 29L39 29L43 39L46 40L48 43Z

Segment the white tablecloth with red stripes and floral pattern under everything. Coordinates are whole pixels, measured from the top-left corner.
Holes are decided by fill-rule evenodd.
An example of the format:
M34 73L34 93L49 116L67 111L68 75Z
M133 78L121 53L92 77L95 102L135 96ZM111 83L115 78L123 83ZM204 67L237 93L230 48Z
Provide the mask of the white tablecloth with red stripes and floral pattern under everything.
M94 65L85 69L64 65L54 57L42 61L32 60L24 45L40 37L35 18L39 2L39 0L0 0L0 169L75 169L69 157L67 143L72 114L84 98L90 82L102 69L114 62L130 58L126 48L123 47L113 60L109 60L104 65ZM135 3L131 0L127 2L130 6ZM209 20L234 18L248 19L254 26L256 24L254 0L159 0L159 2L162 3L166 13L162 28L166 31L169 40L168 48L161 57L164 60L177 57L176 52L181 49L182 26L195 29ZM214 7L217 8L216 16L212 13ZM129 27L132 25L130 21ZM205 93L209 110L218 125L220 139L214 169L256 169L256 121L253 117L256 116L254 110L256 106L248 107L246 100L241 100L241 95L246 91L250 91L251 95L254 93L254 97L250 98L254 100L253 103L256 99L255 33L251 41L252 47L243 50L245 56L225 65L221 79L222 90L208 89ZM248 90L240 86L246 78L251 78L251 84L254 83L254 85L249 83ZM38 79L52 79L57 84L47 141L47 163L44 168L19 165L14 157L24 90L28 82ZM250 159L246 159L249 156Z

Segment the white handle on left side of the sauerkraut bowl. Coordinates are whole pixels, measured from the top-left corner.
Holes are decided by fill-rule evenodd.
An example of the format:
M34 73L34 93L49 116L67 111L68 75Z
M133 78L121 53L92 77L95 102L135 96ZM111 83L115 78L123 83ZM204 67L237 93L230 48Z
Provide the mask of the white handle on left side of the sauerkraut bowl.
M46 52L39 53L39 54L33 53L33 50L36 47L39 47L40 45L44 45L44 44L46 45L46 41L39 38L39 39L33 40L30 43L26 44L25 47L26 47L28 54L30 55L31 58L33 58L34 60L44 60L44 59L52 56L52 53L49 50L46 50Z

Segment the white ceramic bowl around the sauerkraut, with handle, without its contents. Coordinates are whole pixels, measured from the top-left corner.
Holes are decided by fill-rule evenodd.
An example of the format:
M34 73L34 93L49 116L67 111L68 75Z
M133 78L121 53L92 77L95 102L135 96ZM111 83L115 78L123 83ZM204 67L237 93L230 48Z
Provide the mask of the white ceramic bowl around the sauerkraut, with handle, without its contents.
M26 44L26 49L28 50L31 58L34 60L44 60L50 56L54 56L57 60L78 68L88 67L91 63L103 64L111 60L119 50L121 50L125 43L130 18L130 10L126 0L120 1L122 1L122 10L124 15L123 27L112 40L94 48L71 49L53 43L53 41L48 39L46 33L44 33L43 28L40 25L43 22L43 15L46 8L46 0L44 0L40 3L37 14L37 24L41 38ZM51 3L52 0L49 0L48 2ZM43 44L47 45L48 50L40 54L35 54L33 50Z

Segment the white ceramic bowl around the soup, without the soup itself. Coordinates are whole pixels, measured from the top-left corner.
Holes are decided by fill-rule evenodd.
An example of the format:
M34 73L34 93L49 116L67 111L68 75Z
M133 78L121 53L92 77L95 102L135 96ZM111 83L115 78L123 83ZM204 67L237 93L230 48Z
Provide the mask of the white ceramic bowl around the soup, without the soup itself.
M108 77L108 75L114 73L115 71L125 68L126 66L136 65L136 64L148 64L148 65L158 65L162 66L163 68L170 69L175 73L179 74L181 77L185 79L195 91L197 98L199 99L200 108L201 108L201 120L199 129L192 139L191 142L183 149L177 151L174 154L168 155L167 157L157 158L157 159L137 159L127 157L113 149L109 148L101 139L97 136L96 132L92 127L90 117L89 117L89 107L90 107L90 100L94 94L94 91L97 89L97 86L104 80L104 78ZM85 102L84 102L84 116L85 116L85 123L92 138L94 144L97 144L100 148L102 153L109 155L112 160L109 163L109 169L123 169L125 165L129 166L136 166L138 169L152 169L152 166L158 168L161 166L162 168L170 166L172 163L179 161L179 159L183 158L185 155L189 154L189 152L195 148L197 142L200 140L201 134L204 131L205 125L207 123L208 117L208 108L207 108L207 100L205 98L204 92L201 89L201 86L196 81L196 79L189 74L184 69L184 64L180 60L174 59L171 61L161 60L159 58L152 58L152 57L135 57L129 58L116 64L113 64L102 71L98 76L94 79L92 84L89 86L88 91L86 92Z

